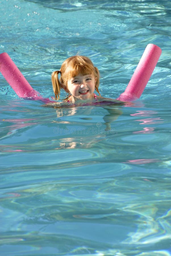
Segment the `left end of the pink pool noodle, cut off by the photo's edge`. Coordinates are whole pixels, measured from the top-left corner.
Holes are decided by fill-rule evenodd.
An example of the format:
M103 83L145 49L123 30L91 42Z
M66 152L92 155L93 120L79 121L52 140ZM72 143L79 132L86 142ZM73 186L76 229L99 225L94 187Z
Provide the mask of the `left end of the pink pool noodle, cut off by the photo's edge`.
M37 100L42 98L28 83L6 52L0 54L0 71L20 98L31 97Z

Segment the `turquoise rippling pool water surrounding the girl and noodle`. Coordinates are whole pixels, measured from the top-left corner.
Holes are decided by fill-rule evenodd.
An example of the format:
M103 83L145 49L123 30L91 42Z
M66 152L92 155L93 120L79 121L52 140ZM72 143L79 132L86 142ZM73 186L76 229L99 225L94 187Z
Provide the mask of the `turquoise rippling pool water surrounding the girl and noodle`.
M162 55L140 100L55 109L0 75L0 252L171 255L170 1L0 0L0 53L53 96L51 73L87 55L100 92L124 92L149 43ZM63 95L64 96L64 95Z

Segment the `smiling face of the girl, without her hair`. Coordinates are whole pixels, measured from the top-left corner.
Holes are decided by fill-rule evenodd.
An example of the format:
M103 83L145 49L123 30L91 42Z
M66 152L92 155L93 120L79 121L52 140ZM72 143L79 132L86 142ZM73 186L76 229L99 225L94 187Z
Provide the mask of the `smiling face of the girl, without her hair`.
M93 92L97 78L94 74L82 75L79 73L76 77L71 77L67 82L68 91L73 96L74 100L94 99Z

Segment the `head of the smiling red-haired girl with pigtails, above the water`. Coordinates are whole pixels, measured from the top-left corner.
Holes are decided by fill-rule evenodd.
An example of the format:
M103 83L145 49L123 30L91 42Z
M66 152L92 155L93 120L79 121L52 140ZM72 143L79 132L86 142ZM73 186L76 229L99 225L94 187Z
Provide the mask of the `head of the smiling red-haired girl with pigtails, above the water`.
M52 85L57 100L60 98L61 89L64 89L68 93L65 98L67 102L93 101L97 99L94 90L100 95L99 70L89 58L72 56L62 63L59 71L52 73Z

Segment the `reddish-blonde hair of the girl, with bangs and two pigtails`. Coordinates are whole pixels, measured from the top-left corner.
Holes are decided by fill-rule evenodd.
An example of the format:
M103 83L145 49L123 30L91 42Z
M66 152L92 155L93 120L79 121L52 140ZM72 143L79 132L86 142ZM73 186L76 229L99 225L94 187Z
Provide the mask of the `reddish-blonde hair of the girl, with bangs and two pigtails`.
M61 74L60 79L58 77L59 73ZM59 100L61 88L68 92L68 96L66 96L65 99L67 100L69 98L70 92L68 91L67 82L72 77L76 77L79 73L82 75L93 74L94 77L97 78L95 90L99 93L99 70L97 67L94 67L88 57L76 55L66 59L62 63L61 69L52 73L52 85L56 100Z

